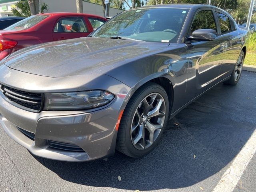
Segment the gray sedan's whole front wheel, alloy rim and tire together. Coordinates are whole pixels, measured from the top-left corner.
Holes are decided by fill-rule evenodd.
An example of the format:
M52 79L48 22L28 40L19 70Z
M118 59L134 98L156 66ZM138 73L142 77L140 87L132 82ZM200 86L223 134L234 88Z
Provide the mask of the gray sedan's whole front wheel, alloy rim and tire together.
M124 110L116 149L134 158L148 154L163 133L168 112L168 96L162 86L150 82L140 87Z

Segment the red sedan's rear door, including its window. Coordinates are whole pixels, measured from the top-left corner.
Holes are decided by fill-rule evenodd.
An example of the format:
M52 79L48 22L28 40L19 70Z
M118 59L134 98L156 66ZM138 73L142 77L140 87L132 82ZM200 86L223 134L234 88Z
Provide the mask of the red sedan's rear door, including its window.
M90 31L83 16L60 18L56 22L52 32L55 41L86 37L88 34L90 34Z

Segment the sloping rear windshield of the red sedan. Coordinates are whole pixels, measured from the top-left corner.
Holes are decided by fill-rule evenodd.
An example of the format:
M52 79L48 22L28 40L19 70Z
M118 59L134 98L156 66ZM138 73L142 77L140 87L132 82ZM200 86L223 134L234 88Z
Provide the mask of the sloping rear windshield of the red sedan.
M45 18L47 18L49 15L33 15L31 17L28 17L24 20L21 20L7 28L5 28L4 30L24 30L24 29L28 29L36 24L38 24L39 22L41 22L42 20L44 20Z

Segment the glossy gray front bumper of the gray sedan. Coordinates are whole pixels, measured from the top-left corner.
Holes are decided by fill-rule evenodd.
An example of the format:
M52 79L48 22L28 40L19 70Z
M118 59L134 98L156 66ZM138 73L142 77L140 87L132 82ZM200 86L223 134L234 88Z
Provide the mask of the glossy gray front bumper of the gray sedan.
M11 73L18 73L18 71L11 70ZM22 90L29 90L32 86L26 83L26 79L37 79L40 82L46 82L49 79L47 77L38 76L34 78L35 75L32 74L22 74L25 77L20 79L20 81L7 82L6 79L8 80L8 78L0 77L0 82L10 87L19 87L22 88ZM46 81L44 81L44 79L46 79ZM13 79L10 78L10 80ZM22 82L23 80L24 82ZM105 108L94 111L30 112L10 104L4 94L0 92L0 124L12 139L36 156L73 162L95 160L111 156L115 152L117 135L115 127L118 116L120 111L125 108L128 100L127 97L132 89L109 76L103 75L103 77L99 77L98 80L100 82L107 82L105 84L96 83L99 89L112 92L115 95L115 99ZM57 82L59 81L60 80ZM41 92L40 88L43 87L42 83L38 90L36 90L36 84L38 83L33 82L33 84L33 91ZM49 92L58 92L59 90L57 90L56 87L60 90L63 89L62 86L57 86L53 83L48 85L50 87L47 87L47 84L45 84L44 88L49 90ZM90 83L86 85L88 86ZM54 89L51 90L51 87L54 87ZM73 90L78 89L79 88L76 87ZM86 90L87 88L83 89ZM90 90L90 88L88 88L88 90ZM18 128L33 133L34 140L28 138L28 136L22 133ZM78 146L83 151L74 152L52 148L49 146L48 141L72 144Z

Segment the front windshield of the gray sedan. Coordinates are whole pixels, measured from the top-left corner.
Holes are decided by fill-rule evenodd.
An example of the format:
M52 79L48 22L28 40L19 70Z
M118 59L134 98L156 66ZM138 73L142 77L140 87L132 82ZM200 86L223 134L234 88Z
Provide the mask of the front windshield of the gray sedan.
M188 9L177 8L129 10L103 24L91 36L176 43L187 14Z

